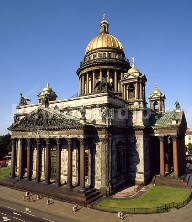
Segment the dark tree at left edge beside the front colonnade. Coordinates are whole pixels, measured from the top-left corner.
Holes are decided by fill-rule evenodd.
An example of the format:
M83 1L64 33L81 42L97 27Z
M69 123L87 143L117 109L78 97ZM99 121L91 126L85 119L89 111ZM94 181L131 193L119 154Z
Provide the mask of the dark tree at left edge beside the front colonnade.
M11 135L0 136L0 156L5 156L11 151Z

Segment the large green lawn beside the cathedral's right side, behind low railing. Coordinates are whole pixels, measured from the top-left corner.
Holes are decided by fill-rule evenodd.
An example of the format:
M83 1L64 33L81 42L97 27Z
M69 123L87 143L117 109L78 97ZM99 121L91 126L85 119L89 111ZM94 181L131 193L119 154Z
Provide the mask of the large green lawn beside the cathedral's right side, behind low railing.
M172 202L182 202L189 197L190 193L190 189L155 186L148 189L143 196L137 199L107 198L97 204L96 208L109 211L126 211L128 208L153 208Z

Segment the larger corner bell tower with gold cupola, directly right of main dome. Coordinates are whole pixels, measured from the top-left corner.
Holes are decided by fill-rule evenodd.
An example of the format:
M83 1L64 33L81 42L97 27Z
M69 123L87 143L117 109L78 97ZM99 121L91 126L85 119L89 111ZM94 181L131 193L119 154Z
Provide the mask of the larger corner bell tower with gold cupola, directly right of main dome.
M129 108L146 107L145 83L147 78L135 68L135 61L132 58L132 68L124 74L121 81L123 88L123 99L128 101Z

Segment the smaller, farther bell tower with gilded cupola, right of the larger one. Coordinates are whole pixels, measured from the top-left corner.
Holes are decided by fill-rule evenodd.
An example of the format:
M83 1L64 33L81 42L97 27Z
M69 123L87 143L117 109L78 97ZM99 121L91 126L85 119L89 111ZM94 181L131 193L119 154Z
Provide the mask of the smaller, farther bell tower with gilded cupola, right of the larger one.
M155 112L165 112L165 94L155 85L154 91L149 96L150 108Z

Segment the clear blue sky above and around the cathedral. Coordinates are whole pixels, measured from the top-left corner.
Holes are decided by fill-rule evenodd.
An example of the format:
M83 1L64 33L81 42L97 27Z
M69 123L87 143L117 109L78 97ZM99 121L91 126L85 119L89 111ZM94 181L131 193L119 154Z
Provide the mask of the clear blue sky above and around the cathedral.
M12 123L20 93L37 103L46 82L58 99L78 92L76 70L99 34L103 13L126 57L158 84L166 110L178 100L192 127L191 0L1 0L0 135Z

